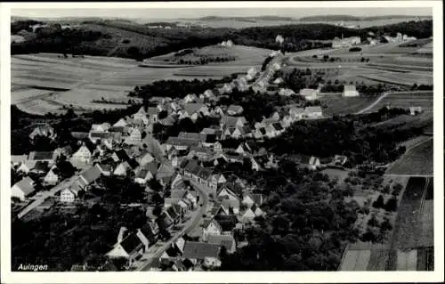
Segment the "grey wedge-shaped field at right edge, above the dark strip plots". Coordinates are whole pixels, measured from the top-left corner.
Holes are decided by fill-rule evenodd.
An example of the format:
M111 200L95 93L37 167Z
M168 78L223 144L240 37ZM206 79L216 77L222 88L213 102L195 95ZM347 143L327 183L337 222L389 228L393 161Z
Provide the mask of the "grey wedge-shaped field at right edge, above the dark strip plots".
M433 174L433 139L409 150L388 167L386 174Z

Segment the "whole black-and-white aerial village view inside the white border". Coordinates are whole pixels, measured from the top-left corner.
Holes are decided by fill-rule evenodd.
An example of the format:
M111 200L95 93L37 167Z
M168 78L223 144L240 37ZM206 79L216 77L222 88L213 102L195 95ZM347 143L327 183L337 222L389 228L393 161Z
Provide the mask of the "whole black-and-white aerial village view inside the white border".
M431 8L112 10L11 12L12 272L434 271Z

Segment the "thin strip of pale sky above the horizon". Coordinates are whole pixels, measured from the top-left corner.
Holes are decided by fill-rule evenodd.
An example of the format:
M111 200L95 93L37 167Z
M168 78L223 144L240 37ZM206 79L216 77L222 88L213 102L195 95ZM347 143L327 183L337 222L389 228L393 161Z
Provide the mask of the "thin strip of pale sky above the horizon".
M352 15L352 16L381 16L381 15L417 15L431 16L431 8L142 8L142 9L12 9L12 16L58 18L58 17L110 17L136 19L178 19L199 18L205 16L282 16L301 18L314 15Z

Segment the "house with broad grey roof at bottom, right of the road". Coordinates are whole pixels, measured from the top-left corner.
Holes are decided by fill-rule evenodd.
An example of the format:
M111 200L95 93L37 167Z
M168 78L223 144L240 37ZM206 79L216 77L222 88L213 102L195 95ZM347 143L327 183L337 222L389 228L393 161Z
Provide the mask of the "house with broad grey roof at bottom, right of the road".
M219 245L197 241L186 241L183 257L190 259L195 263L199 261L206 267L218 267L221 266L219 253Z

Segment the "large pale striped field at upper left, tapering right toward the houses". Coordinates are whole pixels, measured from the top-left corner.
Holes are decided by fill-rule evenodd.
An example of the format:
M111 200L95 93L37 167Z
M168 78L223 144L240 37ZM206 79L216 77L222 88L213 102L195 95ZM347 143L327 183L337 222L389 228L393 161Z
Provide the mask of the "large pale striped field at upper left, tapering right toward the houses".
M248 64L255 63L252 58L241 58L219 65L156 69L142 68L136 61L115 57L59 56L53 53L12 56L12 104L35 114L61 113L69 107L78 112L125 108L129 99L126 93L136 85L163 79L222 78L247 72L253 66ZM93 102L102 98L122 103Z

